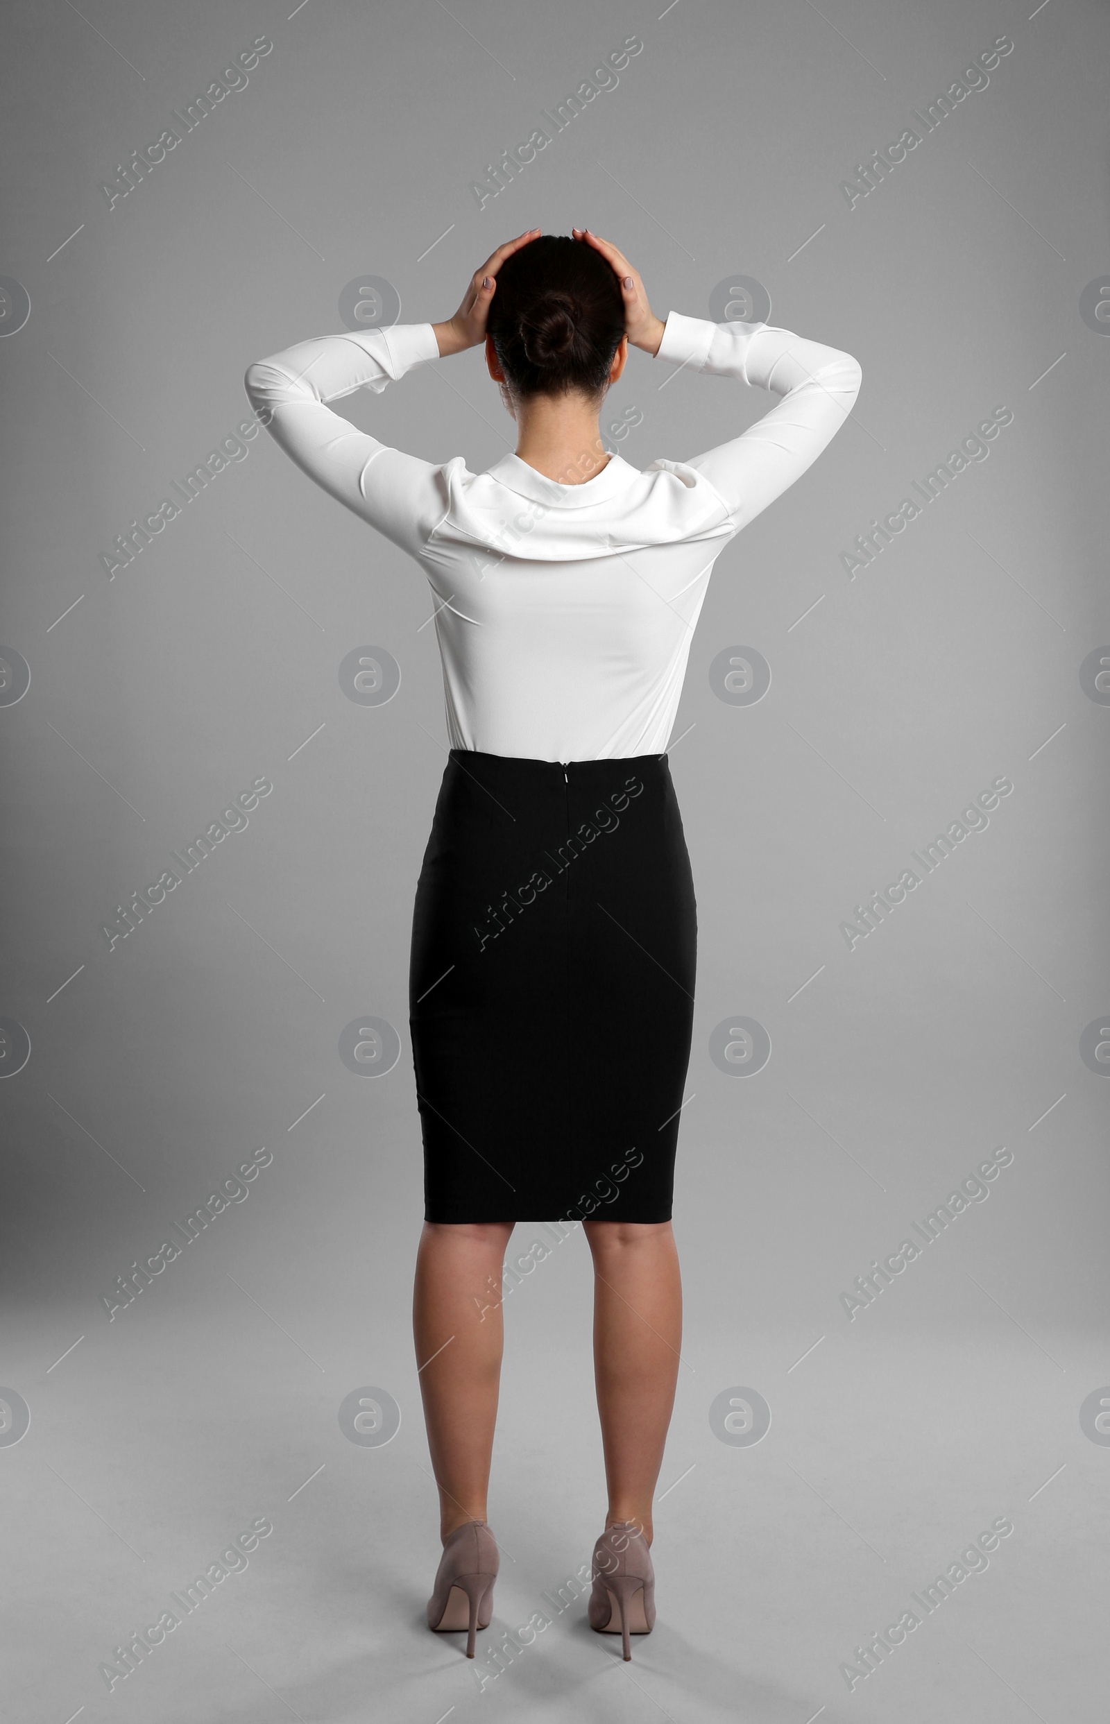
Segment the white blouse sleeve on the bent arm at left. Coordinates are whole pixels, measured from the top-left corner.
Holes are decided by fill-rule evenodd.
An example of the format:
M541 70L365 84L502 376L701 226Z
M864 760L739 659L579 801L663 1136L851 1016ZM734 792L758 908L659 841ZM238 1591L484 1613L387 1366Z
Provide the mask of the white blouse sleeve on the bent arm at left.
M429 322L393 324L296 341L257 359L243 379L250 405L279 448L410 555L419 555L446 509L443 469L379 443L326 403L362 388L381 393L386 383L438 357Z

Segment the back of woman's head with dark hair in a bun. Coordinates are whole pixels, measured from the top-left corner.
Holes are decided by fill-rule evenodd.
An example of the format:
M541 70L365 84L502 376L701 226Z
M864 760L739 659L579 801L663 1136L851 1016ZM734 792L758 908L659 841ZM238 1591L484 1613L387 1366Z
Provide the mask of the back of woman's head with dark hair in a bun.
M539 234L498 269L486 328L512 395L596 398L624 334L620 286L591 245Z

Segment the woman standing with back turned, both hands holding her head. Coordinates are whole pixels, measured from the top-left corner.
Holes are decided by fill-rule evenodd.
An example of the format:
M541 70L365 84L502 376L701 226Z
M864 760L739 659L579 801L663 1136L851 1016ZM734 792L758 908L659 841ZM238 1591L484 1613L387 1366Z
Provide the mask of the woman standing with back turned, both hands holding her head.
M517 448L474 474L390 448L326 402L484 343ZM639 472L598 412L629 345L783 400ZM655 1622L652 1500L674 1403L674 1155L696 905L667 740L715 559L826 448L850 353L772 324L652 312L589 229L531 229L446 322L298 341L246 371L274 440L408 552L433 590L452 748L415 893L408 1024L424 1140L414 1334L443 1557L427 1622L490 1624L486 1488L500 1290L517 1221L581 1221L608 1484L589 1624ZM448 1343L450 1338L450 1345Z

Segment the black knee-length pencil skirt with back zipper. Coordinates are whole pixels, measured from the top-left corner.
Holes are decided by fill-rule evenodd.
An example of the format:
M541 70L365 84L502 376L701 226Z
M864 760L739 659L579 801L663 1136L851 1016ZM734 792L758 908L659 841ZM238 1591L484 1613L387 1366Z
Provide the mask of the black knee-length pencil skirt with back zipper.
M450 750L408 969L426 1221L670 1221L696 941L667 755Z

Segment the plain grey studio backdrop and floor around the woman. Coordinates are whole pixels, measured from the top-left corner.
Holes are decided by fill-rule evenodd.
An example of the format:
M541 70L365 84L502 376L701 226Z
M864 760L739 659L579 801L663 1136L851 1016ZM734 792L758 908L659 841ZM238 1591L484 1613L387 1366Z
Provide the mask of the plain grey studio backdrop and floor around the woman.
M1091 0L9 12L14 1717L1093 1715L1108 59ZM700 921L686 1340L631 1665L571 1602L605 1510L581 1229L507 1284L493 1627L469 1665L422 1624L407 960L446 748L431 602L236 434L250 360L445 319L533 222L614 238L660 315L769 315L864 367L851 422L717 562L674 731ZM639 467L772 403L660 384L631 353L603 414ZM338 410L472 471L514 447L479 352ZM986 824L965 815L996 781ZM246 824L143 909L252 784Z

